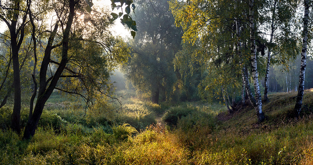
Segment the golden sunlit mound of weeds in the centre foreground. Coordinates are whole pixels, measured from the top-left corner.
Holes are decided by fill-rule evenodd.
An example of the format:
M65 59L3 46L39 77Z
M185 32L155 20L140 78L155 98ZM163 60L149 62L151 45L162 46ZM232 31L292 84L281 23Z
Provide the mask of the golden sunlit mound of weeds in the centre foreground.
M177 135L160 126L150 127L133 138L131 146L123 150L114 164L190 164L190 152Z

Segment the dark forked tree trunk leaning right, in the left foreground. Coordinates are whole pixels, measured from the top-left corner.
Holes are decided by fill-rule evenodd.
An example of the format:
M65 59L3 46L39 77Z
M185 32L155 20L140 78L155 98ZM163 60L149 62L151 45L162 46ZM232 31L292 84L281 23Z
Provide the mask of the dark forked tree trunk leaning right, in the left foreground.
M55 33L58 29L58 22L54 26L54 31L50 34L48 44L45 50L44 58L40 67L40 73L39 73L39 91L38 91L38 98L35 104L35 108L33 110L32 116L28 119L28 122L25 126L25 131L23 135L23 139L29 139L31 136L35 134L40 116L44 110L44 104L52 94L55 86L57 85L57 82L66 66L66 63L68 62L68 49L69 49L69 34L70 29L73 23L73 18L75 15L74 7L76 2L74 0L69 0L69 16L66 23L66 28L63 32L63 40L62 40L62 56L61 56L61 62L59 63L59 67L55 71L55 74L53 75L50 81L49 86L46 88L48 82L46 81L46 74L48 65L50 62L50 54L52 50L52 43L54 40Z

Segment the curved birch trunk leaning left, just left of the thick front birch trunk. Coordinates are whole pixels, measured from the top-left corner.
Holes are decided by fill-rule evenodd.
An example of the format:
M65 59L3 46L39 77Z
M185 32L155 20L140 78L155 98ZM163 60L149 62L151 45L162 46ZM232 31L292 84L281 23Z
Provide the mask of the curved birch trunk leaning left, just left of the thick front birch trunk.
M237 0L235 0L235 9L237 8ZM242 47L242 44L241 44L241 40L240 40L240 37L241 37L241 31L240 31L240 23L239 23L239 20L238 18L235 18L236 19L236 35L237 35L237 50L238 50L238 55L239 55L239 58L240 58L240 65L242 66L241 68L241 75L242 75L242 80L243 80L243 83L244 83L244 86L245 86L245 90L247 92L247 96L249 98L249 101L251 102L252 106L253 107L256 107L256 102L255 102L255 99L252 95L252 92L251 92L251 88L250 88L250 83L249 83L249 78L248 78L248 72L246 70L246 67L245 65L243 64L243 58L242 58L242 52L241 52L241 47Z

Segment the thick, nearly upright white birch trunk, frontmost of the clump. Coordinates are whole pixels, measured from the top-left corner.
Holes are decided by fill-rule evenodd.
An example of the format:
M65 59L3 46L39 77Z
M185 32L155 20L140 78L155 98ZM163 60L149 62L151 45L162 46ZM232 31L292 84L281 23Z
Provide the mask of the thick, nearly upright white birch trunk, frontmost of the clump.
M254 27L254 0L249 0L249 22L250 22L250 41L251 41L251 61L252 61L252 75L254 84L254 93L256 100L256 113L258 121L264 121L264 113L262 111L262 98L260 93L259 78L258 78L258 67L256 59L256 46L255 46L255 27Z

